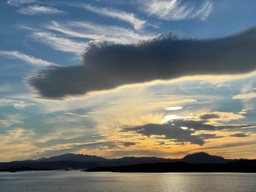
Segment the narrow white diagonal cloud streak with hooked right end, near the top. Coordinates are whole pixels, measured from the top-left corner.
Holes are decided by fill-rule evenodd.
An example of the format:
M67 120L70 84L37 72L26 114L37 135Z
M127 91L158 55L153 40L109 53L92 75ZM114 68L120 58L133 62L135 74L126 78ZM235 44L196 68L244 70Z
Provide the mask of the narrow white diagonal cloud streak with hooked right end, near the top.
M117 18L122 21L128 22L134 26L136 30L142 28L146 21L136 18L134 13L127 13L125 11L118 11L116 9L111 9L111 8L103 8L103 7L95 7L91 6L90 4L82 4L83 8L90 10L92 12L95 12L97 14L100 14L102 16L107 16L111 18Z

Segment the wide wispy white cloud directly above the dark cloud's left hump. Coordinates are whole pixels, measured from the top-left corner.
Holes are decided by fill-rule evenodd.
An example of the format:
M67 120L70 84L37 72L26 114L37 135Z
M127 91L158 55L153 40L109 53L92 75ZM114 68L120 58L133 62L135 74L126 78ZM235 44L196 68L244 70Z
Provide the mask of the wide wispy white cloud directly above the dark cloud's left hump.
M48 29L61 32L66 36L99 40L104 38L115 43L132 43L148 38L135 31L117 26L102 26L90 22L68 22L66 26L55 21L47 24Z

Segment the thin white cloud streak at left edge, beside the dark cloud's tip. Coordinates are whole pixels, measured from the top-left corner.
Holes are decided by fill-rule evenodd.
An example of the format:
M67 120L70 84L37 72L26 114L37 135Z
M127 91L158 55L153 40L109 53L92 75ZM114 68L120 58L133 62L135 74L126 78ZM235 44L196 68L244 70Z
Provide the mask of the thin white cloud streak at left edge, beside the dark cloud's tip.
M55 63L41 60L41 58L36 58L30 55L25 55L24 53L18 51L0 51L0 56L21 60L36 67L57 66Z

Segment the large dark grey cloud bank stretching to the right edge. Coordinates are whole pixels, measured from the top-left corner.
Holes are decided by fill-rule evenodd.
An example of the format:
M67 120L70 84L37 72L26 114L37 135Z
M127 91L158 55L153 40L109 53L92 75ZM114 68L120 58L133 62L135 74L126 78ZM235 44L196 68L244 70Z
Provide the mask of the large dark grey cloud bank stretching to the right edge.
M81 65L48 67L28 77L42 97L61 99L131 83L256 69L256 28L219 39L165 35L131 45L92 44ZM81 50L82 51L82 50Z

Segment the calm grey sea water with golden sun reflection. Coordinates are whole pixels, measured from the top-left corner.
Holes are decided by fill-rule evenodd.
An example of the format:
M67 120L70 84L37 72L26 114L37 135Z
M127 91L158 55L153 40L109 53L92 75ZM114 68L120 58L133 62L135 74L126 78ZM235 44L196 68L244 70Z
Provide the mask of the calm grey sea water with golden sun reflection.
M0 191L256 192L256 174L28 171L0 173Z

